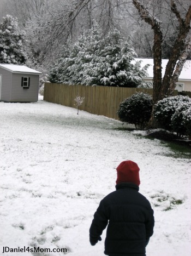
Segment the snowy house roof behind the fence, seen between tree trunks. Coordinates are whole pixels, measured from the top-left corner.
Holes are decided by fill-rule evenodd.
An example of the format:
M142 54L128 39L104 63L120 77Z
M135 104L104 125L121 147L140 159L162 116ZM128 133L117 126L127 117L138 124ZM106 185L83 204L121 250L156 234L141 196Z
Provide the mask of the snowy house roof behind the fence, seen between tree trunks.
M135 60L142 60L141 67L144 67L146 64L150 64L151 66L148 67L148 78L153 78L153 59L141 59L141 58L135 58ZM162 77L164 76L166 65L168 63L168 59L162 60ZM191 60L186 60L181 75L178 78L179 80L190 80L191 81Z

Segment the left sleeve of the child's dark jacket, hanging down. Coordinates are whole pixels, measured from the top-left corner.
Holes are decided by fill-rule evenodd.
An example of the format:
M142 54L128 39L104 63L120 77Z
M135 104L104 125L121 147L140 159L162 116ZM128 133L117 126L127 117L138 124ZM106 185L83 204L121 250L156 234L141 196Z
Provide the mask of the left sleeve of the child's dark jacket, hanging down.
M100 235L108 225L109 217L106 214L106 209L103 200L100 202L97 211L94 213L94 218L89 229L89 241L94 244L98 242Z

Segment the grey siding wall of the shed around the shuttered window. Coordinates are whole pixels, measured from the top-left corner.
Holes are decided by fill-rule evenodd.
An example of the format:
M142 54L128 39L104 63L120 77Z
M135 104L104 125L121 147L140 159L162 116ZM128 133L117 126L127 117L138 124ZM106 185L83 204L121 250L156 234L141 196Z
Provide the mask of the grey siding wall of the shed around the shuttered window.
M13 73L12 88L11 88L11 102L29 102L38 101L38 91L39 91L39 75L34 74L20 74ZM30 77L29 88L23 88L21 86L22 77Z

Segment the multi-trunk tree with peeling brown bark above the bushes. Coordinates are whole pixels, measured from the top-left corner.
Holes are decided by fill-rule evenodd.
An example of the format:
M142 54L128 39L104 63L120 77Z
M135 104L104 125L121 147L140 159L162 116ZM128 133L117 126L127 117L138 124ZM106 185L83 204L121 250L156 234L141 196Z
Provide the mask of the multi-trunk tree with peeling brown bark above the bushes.
M162 1L157 1L161 3ZM191 20L191 5L184 10L184 17L181 16L180 10L174 0L170 1L171 15L175 14L178 20L178 35L172 47L172 53L166 66L165 75L162 79L162 42L163 30L162 23L156 15L151 12L151 9L139 0L133 0L135 8L138 10L141 18L148 23L154 32L153 41L153 106L158 100L163 99L167 95L171 95L175 89L178 76L182 71L186 57L190 50L190 20ZM150 4L150 1L148 1ZM178 3L178 1L177 1ZM157 6L157 5L156 5ZM153 11L153 9L152 9ZM185 12L186 11L186 12ZM175 18L175 17L174 17ZM150 125L153 125L153 117L150 120Z

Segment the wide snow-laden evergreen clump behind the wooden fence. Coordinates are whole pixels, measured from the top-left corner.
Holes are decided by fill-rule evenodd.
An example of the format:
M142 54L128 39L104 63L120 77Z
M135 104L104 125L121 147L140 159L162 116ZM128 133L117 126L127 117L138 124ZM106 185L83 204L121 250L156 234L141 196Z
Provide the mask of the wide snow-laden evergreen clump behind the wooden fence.
M120 31L104 35L95 26L80 36L76 43L63 47L62 56L49 73L53 83L88 86L137 87L147 76L148 65L141 69L130 39L123 42Z

